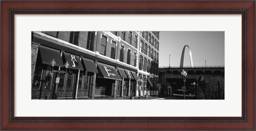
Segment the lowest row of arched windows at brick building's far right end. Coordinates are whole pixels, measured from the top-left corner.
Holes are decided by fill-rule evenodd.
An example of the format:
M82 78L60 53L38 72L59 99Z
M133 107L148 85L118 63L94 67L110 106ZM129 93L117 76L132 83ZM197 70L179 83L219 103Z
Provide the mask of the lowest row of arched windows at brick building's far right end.
M150 62L147 58L143 59L142 55L140 55L139 70L158 75L158 64L153 61Z

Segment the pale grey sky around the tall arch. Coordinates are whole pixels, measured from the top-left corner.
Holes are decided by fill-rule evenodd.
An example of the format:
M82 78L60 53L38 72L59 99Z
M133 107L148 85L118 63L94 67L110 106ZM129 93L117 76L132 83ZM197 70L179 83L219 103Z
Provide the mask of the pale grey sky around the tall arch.
M224 31L160 31L159 67L180 66L183 47L188 45L194 66L225 66ZM186 47L183 66L190 66Z

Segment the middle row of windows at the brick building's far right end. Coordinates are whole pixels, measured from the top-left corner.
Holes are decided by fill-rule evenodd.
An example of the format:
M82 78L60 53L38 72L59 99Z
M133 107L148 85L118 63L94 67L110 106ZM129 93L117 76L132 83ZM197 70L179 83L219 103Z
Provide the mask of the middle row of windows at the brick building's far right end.
M143 43L143 40L140 41L139 51L158 62L158 53L150 48L147 43Z

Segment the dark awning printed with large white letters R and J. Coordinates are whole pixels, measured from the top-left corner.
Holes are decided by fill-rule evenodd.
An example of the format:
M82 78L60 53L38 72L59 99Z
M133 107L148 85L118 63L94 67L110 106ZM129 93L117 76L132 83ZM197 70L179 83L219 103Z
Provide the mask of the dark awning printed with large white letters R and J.
M65 55L65 62L64 63L66 63L66 61L68 61L69 69L84 70L79 56L74 55L74 54L69 54L67 52L64 52L64 55Z

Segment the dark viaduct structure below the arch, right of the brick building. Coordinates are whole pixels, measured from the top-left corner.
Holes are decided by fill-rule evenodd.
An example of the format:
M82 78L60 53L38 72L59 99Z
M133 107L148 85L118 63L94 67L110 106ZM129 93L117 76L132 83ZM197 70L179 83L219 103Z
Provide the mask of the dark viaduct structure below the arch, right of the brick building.
M225 99L224 66L159 67L159 83L169 83L171 87L167 94L183 96L182 70L187 72L186 97L191 97L191 99Z

